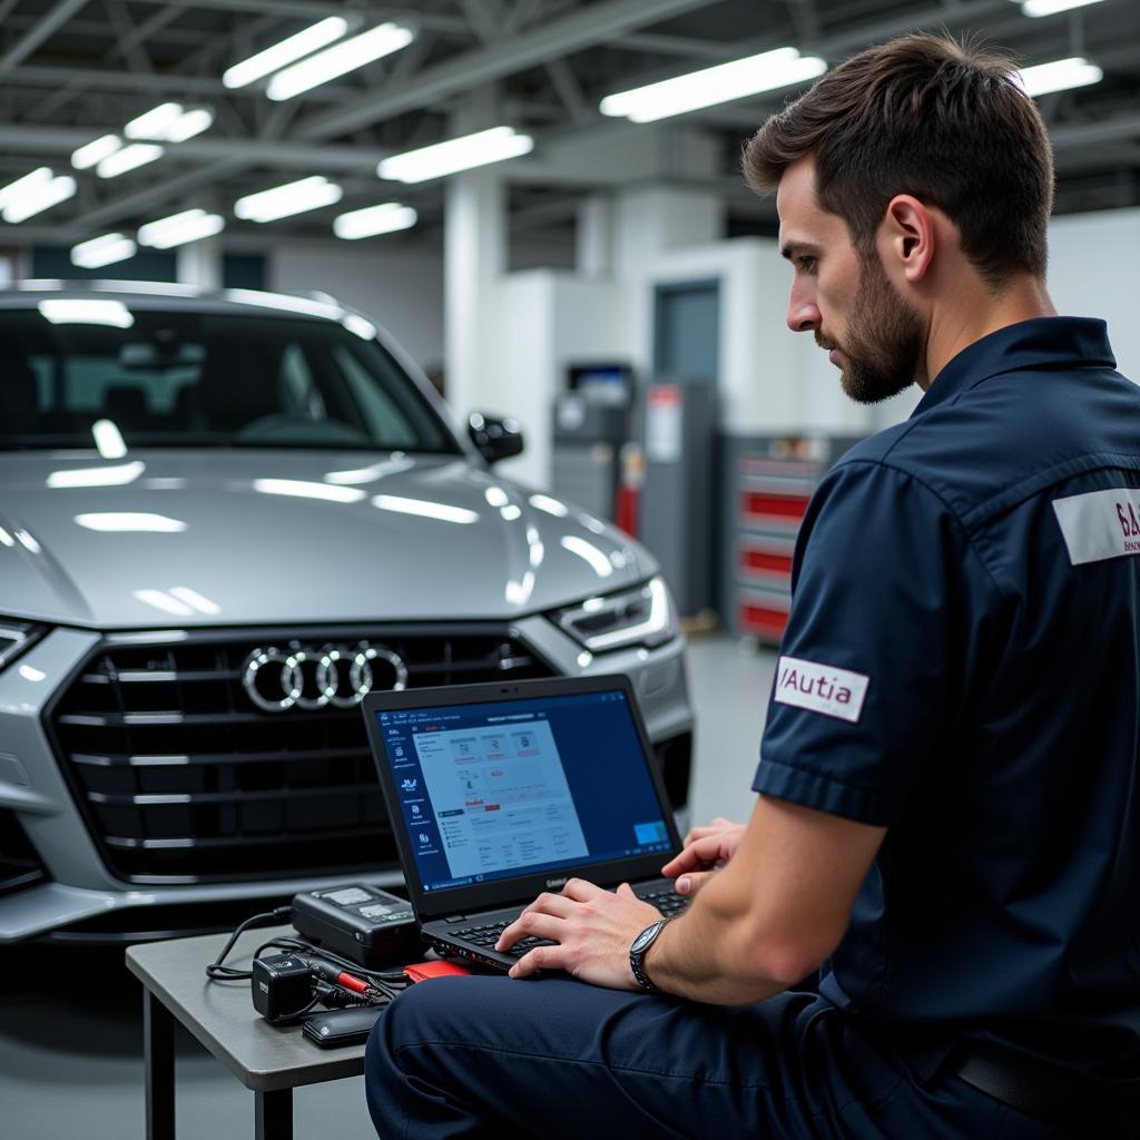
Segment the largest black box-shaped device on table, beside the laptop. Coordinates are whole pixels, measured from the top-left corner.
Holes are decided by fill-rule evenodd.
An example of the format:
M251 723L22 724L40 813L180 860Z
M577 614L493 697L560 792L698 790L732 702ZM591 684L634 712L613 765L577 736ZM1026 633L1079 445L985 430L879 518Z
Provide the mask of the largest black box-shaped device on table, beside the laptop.
M422 956L412 904L365 882L294 895L293 926L306 938L369 970Z

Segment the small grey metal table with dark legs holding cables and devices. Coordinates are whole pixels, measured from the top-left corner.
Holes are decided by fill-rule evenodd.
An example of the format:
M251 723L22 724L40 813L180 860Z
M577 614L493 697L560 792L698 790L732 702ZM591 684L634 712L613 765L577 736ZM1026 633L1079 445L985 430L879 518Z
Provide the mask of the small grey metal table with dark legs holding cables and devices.
M254 950L292 927L247 930L226 959L247 969ZM270 1025L253 1008L250 983L205 976L229 935L131 946L127 968L142 983L147 1140L174 1137L174 1023L180 1021L253 1091L255 1140L291 1140L293 1090L364 1073L364 1045L323 1050L299 1024Z

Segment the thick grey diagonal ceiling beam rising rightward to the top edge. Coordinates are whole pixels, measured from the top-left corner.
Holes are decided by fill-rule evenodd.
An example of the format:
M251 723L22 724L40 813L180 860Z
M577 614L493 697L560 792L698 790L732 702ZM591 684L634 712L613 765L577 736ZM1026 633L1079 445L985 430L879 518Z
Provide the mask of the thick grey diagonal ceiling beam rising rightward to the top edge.
M301 124L306 139L328 139L427 106L512 72L547 63L622 32L657 24L670 16L706 8L716 0L608 0L576 9L543 27L522 32L491 47L464 52L423 71L410 83L363 99L341 111L311 116ZM1005 2L1005 0L1002 0Z

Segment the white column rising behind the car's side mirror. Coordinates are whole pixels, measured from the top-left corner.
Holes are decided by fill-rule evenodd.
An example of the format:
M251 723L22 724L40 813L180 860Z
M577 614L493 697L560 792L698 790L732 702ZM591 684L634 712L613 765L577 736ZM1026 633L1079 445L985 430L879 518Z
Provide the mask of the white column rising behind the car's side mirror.
M479 406L484 386L506 241L506 188L499 172L491 166L450 179L443 206L445 375L448 402L464 420Z

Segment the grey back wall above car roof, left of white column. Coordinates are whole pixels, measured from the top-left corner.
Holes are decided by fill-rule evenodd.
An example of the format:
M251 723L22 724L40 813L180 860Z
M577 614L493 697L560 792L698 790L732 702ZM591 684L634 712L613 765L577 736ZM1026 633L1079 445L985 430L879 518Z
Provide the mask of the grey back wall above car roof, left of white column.
M269 287L320 290L390 332L421 367L443 359L443 259L359 243L285 242L269 253Z

